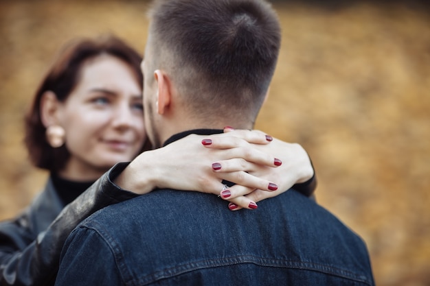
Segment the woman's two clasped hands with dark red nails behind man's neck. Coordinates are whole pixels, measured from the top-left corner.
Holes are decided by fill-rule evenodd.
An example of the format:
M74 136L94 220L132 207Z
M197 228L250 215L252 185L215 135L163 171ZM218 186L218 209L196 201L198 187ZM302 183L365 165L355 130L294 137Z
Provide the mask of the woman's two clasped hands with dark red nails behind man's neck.
M236 210L256 208L256 202L283 193L312 175L313 167L300 145L257 130L225 128L223 134L191 134L144 152L115 183L139 194L165 188L213 193ZM223 180L236 185L226 189Z

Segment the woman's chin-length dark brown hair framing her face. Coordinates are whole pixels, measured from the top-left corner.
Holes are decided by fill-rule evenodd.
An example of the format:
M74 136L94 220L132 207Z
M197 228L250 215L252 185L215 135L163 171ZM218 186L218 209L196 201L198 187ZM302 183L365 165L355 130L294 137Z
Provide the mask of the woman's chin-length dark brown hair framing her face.
M142 57L123 40L112 35L98 38L78 38L60 50L51 68L34 95L32 106L25 117L25 145L30 160L42 169L58 171L69 159L65 146L53 148L47 143L46 128L41 119L41 99L45 91L52 91L60 102L64 102L80 80L84 63L102 54L109 54L124 61L133 69L142 88L143 75L140 69Z

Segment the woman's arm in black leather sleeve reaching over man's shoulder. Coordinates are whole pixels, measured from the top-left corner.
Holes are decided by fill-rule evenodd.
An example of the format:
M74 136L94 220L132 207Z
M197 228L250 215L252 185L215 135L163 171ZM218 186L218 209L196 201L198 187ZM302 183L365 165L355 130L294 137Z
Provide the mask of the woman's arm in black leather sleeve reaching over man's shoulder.
M87 191L65 206L49 227L30 242L23 228L8 223L1 234L0 285L47 285L53 283L63 243L82 220L95 211L135 198L136 194L118 189L109 176L116 176L126 164L115 166ZM116 168L116 169L115 169Z

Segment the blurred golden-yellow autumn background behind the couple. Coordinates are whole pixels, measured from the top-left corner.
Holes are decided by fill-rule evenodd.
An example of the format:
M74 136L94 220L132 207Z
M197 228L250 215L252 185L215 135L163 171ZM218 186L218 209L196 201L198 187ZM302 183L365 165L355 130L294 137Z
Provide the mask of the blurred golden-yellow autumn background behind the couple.
M317 201L366 241L377 285L430 285L429 5L273 5L282 51L256 128L308 150ZM47 174L27 160L23 116L58 49L76 36L113 33L143 52L147 7L0 1L0 219L45 184Z

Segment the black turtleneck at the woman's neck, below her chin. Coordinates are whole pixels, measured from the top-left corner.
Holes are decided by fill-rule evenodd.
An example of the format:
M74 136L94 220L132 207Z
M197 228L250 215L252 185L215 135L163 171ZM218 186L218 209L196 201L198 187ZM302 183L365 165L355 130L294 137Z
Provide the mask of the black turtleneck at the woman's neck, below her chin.
M94 181L77 182L60 178L57 174L51 174L52 184L58 193L61 201L66 205L78 198L86 189L91 187Z

